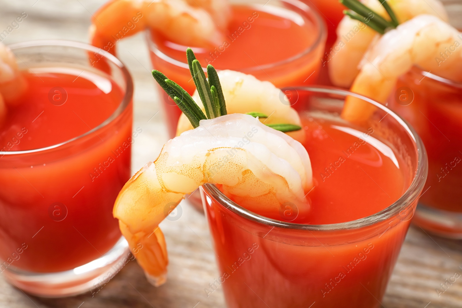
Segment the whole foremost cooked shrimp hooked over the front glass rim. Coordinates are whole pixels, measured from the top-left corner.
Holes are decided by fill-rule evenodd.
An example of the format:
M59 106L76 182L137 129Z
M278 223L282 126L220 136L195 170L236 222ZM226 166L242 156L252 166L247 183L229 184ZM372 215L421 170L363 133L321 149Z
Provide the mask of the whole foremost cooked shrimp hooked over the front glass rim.
M201 120L167 142L125 184L113 212L152 284L164 283L168 264L158 224L204 183L217 184L230 199L266 217L280 219L287 202L303 217L310 208L304 195L313 186L310 157L285 133L243 114Z

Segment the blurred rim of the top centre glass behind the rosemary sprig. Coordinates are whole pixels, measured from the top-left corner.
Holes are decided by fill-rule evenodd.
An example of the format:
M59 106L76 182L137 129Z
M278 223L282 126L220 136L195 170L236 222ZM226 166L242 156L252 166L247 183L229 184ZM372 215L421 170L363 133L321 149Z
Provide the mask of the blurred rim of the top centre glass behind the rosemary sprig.
M277 67L277 66L285 65L287 63L291 63L291 62L293 62L295 60L298 60L298 59L302 58L303 56L309 54L313 50L315 50L319 46L319 44L321 44L322 40L327 38L327 26L324 23L324 20L318 14L318 12L316 12L316 10L314 10L309 5L307 5L306 3L304 3L304 2L302 2L300 0L280 0L280 2L289 3L292 6L296 6L299 9L301 9L302 11L306 12L307 14L310 14L314 18L315 24L319 26L318 36L316 37L316 40L312 44L310 44L310 46L308 46L308 48L304 49L302 52L300 52L300 53L298 53L298 54L296 54L296 55L294 55L294 56L292 56L290 58L280 60L280 61L277 61L277 62L273 62L273 63L267 63L267 64L263 64L263 65L255 65L255 66L245 67L243 69L238 69L239 72L251 73L251 72L260 71L260 70L264 70L264 69L270 69L270 68L274 68L274 67ZM245 4L245 5L249 5L249 4ZM293 11L293 10L291 10L291 11ZM146 41L148 43L149 50L152 50L152 52L154 54L156 54L160 59L162 59L162 60L164 60L164 61L166 61L166 62L168 62L168 63L170 63L172 65L175 65L175 66L178 66L178 67L181 67L181 68L189 69L188 62L182 62L182 61L173 59L170 56L168 56L167 54L164 54L162 51L160 51L157 48L155 42L152 42L150 33L151 33L150 30L146 30ZM203 70L204 70L204 72L207 72L207 70L205 68L203 68Z

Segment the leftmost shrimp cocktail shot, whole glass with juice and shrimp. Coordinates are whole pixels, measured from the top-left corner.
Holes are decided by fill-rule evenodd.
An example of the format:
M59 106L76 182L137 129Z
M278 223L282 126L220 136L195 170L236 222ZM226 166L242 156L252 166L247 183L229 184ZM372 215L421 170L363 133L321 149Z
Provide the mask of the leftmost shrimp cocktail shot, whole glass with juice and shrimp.
M111 209L130 177L133 86L114 56L101 55L108 74L89 52L0 44L0 272L38 296L87 292L129 258Z

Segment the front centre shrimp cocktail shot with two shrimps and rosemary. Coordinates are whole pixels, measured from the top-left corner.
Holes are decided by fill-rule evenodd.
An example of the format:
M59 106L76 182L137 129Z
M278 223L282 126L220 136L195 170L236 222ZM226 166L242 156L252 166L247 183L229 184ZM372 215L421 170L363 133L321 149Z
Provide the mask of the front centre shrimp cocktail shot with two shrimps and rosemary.
M168 277L159 223L200 188L219 268L205 296L222 287L230 308L379 307L426 180L413 128L349 91L283 92L203 69L190 48L186 58L192 96L152 71L182 111L177 137L113 209L149 282ZM349 100L368 112L352 119Z

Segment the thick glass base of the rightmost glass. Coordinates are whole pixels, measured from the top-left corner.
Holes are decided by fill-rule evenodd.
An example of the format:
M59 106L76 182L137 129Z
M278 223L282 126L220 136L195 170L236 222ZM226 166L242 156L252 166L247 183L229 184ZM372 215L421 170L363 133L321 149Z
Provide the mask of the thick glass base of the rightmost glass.
M419 203L413 223L438 236L462 239L462 213L444 211Z

